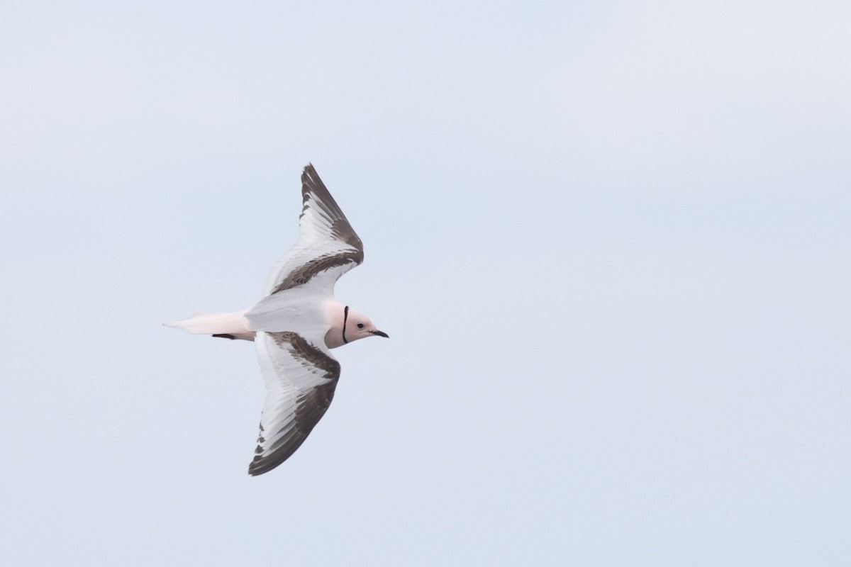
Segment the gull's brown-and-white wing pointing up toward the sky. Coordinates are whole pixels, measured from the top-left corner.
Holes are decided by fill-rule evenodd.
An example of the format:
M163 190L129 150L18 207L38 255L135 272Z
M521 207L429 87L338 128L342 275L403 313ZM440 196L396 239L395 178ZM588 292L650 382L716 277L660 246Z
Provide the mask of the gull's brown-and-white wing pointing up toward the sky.
M363 243L311 164L301 173L299 241L277 261L266 281L265 295L311 281L335 267L336 277L363 262Z

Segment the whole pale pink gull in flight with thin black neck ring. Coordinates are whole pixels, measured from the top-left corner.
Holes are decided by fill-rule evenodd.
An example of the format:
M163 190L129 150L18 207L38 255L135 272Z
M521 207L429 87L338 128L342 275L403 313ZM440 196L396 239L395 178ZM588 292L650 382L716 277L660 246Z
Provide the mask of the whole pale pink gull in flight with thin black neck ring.
M234 313L166 323L194 334L254 341L266 381L260 436L248 474L286 461L328 411L340 379L330 349L387 337L366 315L334 299L334 284L363 262L363 243L311 164L301 173L299 240L277 261L266 292Z

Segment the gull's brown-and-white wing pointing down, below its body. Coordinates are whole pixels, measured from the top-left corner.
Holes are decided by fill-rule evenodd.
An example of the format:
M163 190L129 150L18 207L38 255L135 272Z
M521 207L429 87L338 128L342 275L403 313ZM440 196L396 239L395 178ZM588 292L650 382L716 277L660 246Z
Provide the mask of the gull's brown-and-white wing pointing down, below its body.
M324 348L295 332L258 332L254 343L266 379L254 476L286 461L325 415L340 378L340 363Z

